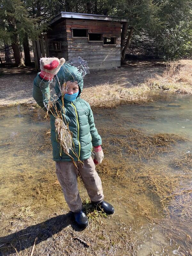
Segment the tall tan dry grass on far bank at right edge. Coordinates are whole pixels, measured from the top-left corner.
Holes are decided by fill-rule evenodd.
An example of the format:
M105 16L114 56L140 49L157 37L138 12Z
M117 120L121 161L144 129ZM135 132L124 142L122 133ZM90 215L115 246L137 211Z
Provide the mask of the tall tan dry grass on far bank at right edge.
M145 83L152 91L192 93L192 60L171 61L162 76L157 75Z

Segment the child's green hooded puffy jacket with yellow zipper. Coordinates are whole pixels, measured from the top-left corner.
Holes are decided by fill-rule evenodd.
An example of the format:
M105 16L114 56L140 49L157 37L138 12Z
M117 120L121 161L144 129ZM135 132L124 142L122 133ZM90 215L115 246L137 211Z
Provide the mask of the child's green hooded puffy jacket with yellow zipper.
M68 72L70 70L70 72ZM69 102L64 100L64 109L62 108L61 97L56 101L58 110L61 111L63 121L69 126L69 130L73 134L73 142L75 146L76 154L79 156L80 160L88 159L91 156L92 146L96 147L101 145L101 137L97 132L94 124L93 113L89 103L80 98L80 94L83 89L83 79L81 73L78 72L77 68L70 67L68 64L63 64L57 74L58 82L56 83L55 89L57 91L58 83L63 84L67 81L77 81L79 84L79 95L76 100ZM46 93L42 93L40 88L44 88L44 92L48 91L49 82L42 79L38 75L34 79L33 85L33 97L37 104L42 107L45 111L43 101L45 101ZM57 135L55 132L55 117L50 114L51 118L51 141L53 148L53 160L59 161L71 161L71 158L67 156L62 150L60 156L60 144L57 141ZM66 120L66 121L65 121ZM70 150L69 154L77 161L77 157Z

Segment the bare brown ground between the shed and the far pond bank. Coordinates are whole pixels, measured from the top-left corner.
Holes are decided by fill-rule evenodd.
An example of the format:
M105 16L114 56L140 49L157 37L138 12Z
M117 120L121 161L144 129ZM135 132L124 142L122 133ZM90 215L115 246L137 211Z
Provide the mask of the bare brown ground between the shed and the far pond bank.
M103 84L118 84L124 88L137 87L148 78L161 75L166 65L160 62L138 61L127 63L121 68L91 71L84 78L84 94L86 88ZM1 68L0 106L19 103L35 103L32 97L34 68Z

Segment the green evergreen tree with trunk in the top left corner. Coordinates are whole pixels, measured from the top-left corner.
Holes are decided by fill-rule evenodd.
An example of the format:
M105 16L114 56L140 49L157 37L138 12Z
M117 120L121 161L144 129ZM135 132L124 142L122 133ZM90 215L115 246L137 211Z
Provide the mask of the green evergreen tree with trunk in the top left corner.
M45 26L39 26L39 19L29 16L21 0L1 0L0 6L0 38L4 38L5 43L11 42L16 66L24 65L20 42L26 34L31 39L38 38Z

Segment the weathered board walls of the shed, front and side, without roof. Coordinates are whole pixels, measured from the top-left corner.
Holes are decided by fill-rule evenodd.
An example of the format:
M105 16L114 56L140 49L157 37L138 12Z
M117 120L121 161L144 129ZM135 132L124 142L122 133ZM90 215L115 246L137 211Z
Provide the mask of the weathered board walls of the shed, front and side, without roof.
M116 44L103 45L103 42L89 42L88 38L72 37L72 29L87 29L88 33L101 33L105 37L116 37ZM54 49L54 43L60 49ZM47 32L47 44L50 57L82 57L87 60L90 69L113 68L121 65L121 24L120 22L95 20L62 20L52 25Z

